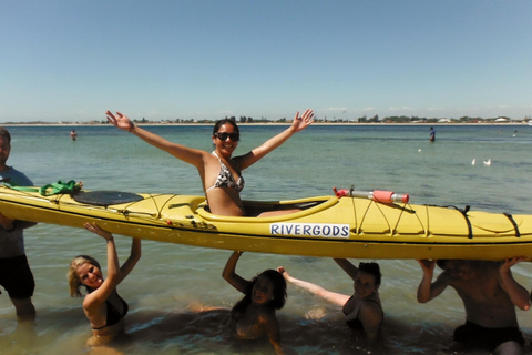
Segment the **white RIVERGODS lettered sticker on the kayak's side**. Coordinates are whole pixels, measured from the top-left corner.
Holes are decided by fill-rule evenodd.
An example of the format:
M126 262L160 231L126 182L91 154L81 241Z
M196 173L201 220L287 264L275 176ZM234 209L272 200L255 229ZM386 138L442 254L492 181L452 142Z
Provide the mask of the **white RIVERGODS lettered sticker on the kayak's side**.
M274 223L269 225L269 233L272 235L349 237L349 224Z

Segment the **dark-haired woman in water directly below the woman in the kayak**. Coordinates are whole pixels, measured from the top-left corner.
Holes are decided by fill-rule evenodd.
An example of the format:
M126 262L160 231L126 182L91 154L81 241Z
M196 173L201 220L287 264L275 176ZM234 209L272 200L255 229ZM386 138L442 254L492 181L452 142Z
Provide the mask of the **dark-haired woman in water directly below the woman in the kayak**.
M286 282L275 270L266 270L252 281L243 278L235 273L242 252L235 251L222 273L233 287L245 294L231 311L233 335L237 339L267 337L275 353L283 354L275 311L285 305Z

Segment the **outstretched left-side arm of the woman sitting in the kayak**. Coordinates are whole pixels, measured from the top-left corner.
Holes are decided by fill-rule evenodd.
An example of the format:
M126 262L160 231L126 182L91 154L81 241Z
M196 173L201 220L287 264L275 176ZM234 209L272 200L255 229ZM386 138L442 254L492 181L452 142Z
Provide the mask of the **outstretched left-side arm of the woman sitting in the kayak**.
M105 112L105 114L108 115L108 121L111 122L114 126L135 134L144 142L156 146L186 163L193 164L198 170L203 169L203 159L205 155L208 155L207 152L165 140L157 134L136 126L125 114L122 114L120 112L116 112L116 115L114 115L111 111L108 111Z

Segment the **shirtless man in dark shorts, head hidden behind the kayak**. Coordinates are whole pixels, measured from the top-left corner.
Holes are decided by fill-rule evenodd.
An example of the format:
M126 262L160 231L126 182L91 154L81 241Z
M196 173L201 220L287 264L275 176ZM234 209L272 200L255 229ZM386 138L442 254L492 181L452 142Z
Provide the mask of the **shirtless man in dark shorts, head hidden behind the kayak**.
M504 262L440 260L418 261L423 278L418 302L426 303L453 287L466 308L466 324L454 329L454 341L466 348L484 348L494 354L523 354L524 339L519 331L515 306L529 310L529 292L512 276L510 267L526 257ZM443 272L432 282L434 264Z

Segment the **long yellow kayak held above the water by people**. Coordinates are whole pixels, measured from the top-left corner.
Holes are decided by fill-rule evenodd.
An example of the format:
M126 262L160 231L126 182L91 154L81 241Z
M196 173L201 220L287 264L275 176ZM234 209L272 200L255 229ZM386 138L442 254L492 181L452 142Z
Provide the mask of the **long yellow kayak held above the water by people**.
M0 186L8 217L83 227L96 222L121 235L289 255L355 258L475 258L532 256L532 215L462 211L351 195L290 201L244 201L250 215L300 211L269 217L219 216L204 196L75 191L42 195L39 187Z

